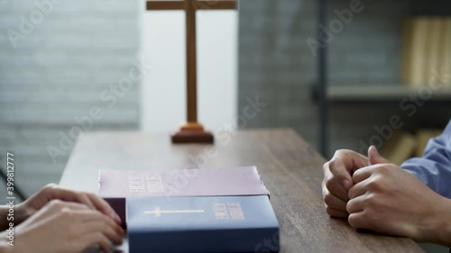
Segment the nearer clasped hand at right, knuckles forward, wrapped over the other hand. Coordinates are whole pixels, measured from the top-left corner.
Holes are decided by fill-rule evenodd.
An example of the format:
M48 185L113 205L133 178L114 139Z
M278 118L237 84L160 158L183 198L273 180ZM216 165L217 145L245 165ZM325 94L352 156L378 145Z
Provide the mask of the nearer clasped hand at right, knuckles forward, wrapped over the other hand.
M354 172L348 193L348 221L374 230L451 246L451 200L393 164Z

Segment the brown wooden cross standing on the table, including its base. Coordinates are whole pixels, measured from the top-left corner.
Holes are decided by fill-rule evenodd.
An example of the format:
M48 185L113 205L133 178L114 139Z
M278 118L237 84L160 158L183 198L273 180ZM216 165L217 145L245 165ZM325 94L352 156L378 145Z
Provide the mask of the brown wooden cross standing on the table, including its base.
M196 61L196 11L235 10L236 0L160 0L148 1L148 11L185 10L187 44L187 123L172 135L172 142L213 142L213 135L198 123L198 89Z

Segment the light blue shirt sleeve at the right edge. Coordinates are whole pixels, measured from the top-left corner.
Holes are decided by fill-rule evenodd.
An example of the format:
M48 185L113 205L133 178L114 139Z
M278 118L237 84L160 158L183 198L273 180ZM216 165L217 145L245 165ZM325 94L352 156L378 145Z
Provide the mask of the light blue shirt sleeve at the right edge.
M400 167L417 176L437 194L451 198L451 121L442 134L428 141L422 158L410 158Z

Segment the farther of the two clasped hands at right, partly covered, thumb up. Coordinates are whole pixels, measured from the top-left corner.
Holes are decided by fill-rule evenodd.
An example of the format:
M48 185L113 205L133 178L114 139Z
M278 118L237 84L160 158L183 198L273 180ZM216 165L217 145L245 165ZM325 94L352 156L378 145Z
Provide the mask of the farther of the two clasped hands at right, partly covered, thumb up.
M327 213L332 217L346 218L346 203L349 201L348 191L354 185L354 171L371 164L387 162L382 158L377 149L371 146L368 156L349 149L336 150L334 157L324 164L324 179L322 182L323 200Z

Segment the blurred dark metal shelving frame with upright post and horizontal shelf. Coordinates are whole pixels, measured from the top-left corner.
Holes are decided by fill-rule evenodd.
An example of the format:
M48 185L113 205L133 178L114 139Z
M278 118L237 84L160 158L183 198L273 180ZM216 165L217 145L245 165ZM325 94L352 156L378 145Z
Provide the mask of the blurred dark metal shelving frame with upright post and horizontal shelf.
M416 3L416 2L415 2ZM414 5L415 3L412 3ZM318 24L327 24L327 0L318 0ZM320 40L321 31L317 31ZM327 158L329 149L328 112L332 105L374 105L397 106L412 93L419 93L420 87L413 88L402 84L374 84L373 86L328 86L327 82L327 43L318 48L318 83L312 89L312 97L318 104L318 148ZM451 106L451 87L440 89L428 98L428 107Z

